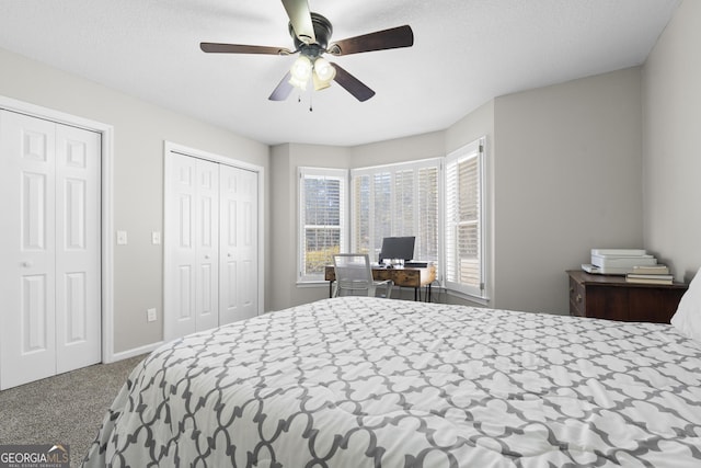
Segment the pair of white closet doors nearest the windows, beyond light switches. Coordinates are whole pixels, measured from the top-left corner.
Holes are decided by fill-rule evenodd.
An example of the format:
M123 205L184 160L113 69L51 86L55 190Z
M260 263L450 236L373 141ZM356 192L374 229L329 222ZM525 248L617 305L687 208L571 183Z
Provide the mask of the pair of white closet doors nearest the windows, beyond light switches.
M163 335L258 311L258 173L170 151Z

